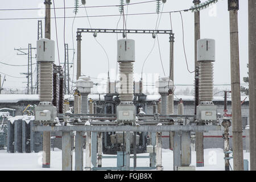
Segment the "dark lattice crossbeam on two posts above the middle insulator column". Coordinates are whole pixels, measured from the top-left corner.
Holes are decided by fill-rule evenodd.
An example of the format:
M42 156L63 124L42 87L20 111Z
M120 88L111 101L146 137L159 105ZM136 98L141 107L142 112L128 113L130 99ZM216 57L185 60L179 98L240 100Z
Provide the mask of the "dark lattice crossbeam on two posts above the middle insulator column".
M77 34L81 34L83 32L93 33L97 31L98 33L123 33L126 32L128 34L172 34L172 30L123 30L123 29L101 29L101 28L77 28Z

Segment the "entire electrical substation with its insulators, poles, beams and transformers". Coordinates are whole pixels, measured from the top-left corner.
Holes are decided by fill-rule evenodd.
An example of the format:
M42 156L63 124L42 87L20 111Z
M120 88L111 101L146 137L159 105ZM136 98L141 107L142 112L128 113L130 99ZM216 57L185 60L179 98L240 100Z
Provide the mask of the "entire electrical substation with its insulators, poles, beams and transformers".
M251 115L254 115L251 114L251 110L250 115L245 117L243 114L245 110L243 104L249 106L249 102L246 101L247 97L241 103L239 54L236 56L238 35L233 33L238 31L236 30L237 21L233 20L237 18L238 0L228 0L230 32L232 31L230 45L233 45L230 50L232 55L231 90L225 90L224 98L221 97L221 101L218 102L214 100L213 80L214 72L216 72L214 65L219 61L216 56L218 54L217 41L212 38L200 38L200 10L206 9L218 1L208 0L202 3L195 0L190 9L182 10L184 12L192 11L195 15L195 73L191 72L195 80L191 84L195 90L192 100L181 97L175 100L177 96L175 95L174 73L178 72L174 69L176 62L174 60L175 35L182 34L182 32L174 32L172 28L160 30L157 26L155 29L126 28L124 7L139 2L121 0L120 5L116 6L121 16L123 15L123 28L77 28L76 35L72 35L74 37L73 44L75 44L72 49L73 56L76 52L75 60L73 58L73 62L70 61L72 56L68 56L68 53L71 49L65 43L63 46L64 63L58 65L56 64L56 55L59 54L59 47L56 49L58 43L57 40L51 38L52 2L54 4L54 0L44 1L46 11L44 38L42 20L38 20L36 47L33 48L29 44L26 49L28 53L24 53L26 51L22 48L15 49L15 51L28 56L28 72L23 75L27 75L26 94L29 97L24 101L17 97L15 103L19 103L19 105L14 107L11 101L1 101L1 95L4 94L0 94L0 107L3 106L0 109L0 117L3 118L0 130L0 149L6 149L7 153L43 151L42 168L51 168L51 148L54 150L58 146L57 148L61 150L61 169L63 171L72 171L73 169L76 171L163 171L163 150L168 148L173 153L171 168L174 171L195 171L197 167L205 165L204 147L209 145L208 148L211 146L213 148L217 143L214 142L217 137L213 137L211 140L210 134L218 133L222 135L219 140L220 146L224 148L222 152L224 158L221 159L225 162L224 170L232 169L230 160L234 160L234 170L248 170L248 160L243 159L242 156L243 144L245 146L246 143L246 151L250 151L250 154L255 152L255 139L251 139L251 137L255 137L255 123L251 121L253 118ZM84 8L86 11L87 2L89 0L75 0L74 13L76 14L80 8ZM160 6L170 3L163 0L152 2L156 2L156 13L161 15L163 11L160 11ZM255 10L255 3L250 0L249 2ZM147 3L147 1L142 1L142 3ZM181 15L181 11L177 12ZM170 17L171 13L177 12L170 12ZM251 16L255 17L255 12L251 13ZM85 18L88 18L88 21L89 17L86 11ZM255 27L255 22L252 23ZM114 40L117 45L116 52L114 52L116 60L114 61L117 64L119 77L114 81L110 80L108 69L105 93L92 93L98 83L89 75L82 74L88 69L94 69L81 67L81 62L84 61L82 58L84 44L81 42L90 44L85 39L85 34L92 35L96 42L98 35L119 35L119 38L117 36L118 39ZM168 48L170 57L167 58L168 64L170 64L169 74L159 76L158 80L154 82L155 88L158 90L158 97L154 99L144 90L143 85L146 83L142 77L139 81L135 81L134 69L138 65L135 63L141 62L135 55L138 55L137 51L142 49L137 47L139 40L132 39L132 35L150 35L155 40L158 40L158 35L161 35L170 46ZM251 46L255 48L255 43ZM32 84L32 50L36 51L34 57L36 59L35 87ZM250 53L250 56L251 59L254 57L255 62L255 53ZM69 69L74 67L74 64L76 64L76 79L71 81L72 76ZM253 65L255 66L255 63L249 63L249 67L253 67ZM249 74L252 75L251 81L256 78L255 73L250 70L249 68ZM93 71L97 72L97 69ZM187 70L179 68L179 72L183 71ZM5 78L3 82L5 82ZM255 86L254 84L251 85ZM1 88L3 85L1 86L0 77L0 93ZM252 90L250 92L253 92ZM227 98L228 94L232 96L230 100ZM35 98L32 98L34 96ZM250 93L250 107L256 103L253 100L255 100L255 94ZM232 112L228 113L227 105L230 106L229 109L231 108ZM22 113L20 113L18 107L23 108L24 106L26 109L22 109ZM220 113L222 106L224 111ZM247 118L250 119L250 128L247 126L249 125ZM233 135L233 148L230 148L230 130ZM58 141L59 144L57 144ZM221 148L220 146L217 147ZM196 164L192 165L192 152L194 151L196 152ZM255 170L255 159L253 160L252 157L253 155L250 158L250 163L253 163L250 164L250 169ZM104 164L105 159L115 159L113 160L114 166ZM144 159L147 159L148 163L138 165L139 161ZM73 167L74 164L75 167Z

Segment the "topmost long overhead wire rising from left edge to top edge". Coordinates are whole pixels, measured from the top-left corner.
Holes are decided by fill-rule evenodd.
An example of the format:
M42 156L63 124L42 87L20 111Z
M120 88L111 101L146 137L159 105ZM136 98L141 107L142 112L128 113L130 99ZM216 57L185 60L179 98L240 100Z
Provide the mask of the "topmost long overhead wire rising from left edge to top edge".
M130 3L129 5L138 5L138 4L143 4L143 3L150 3L150 2L155 2L154 1L144 1L144 2L135 2L135 3ZM118 7L120 5L102 5L102 6L86 6L86 8L97 8L97 7ZM127 5L123 5L127 6ZM56 7L56 9L73 9L74 7ZM77 7L77 8L82 8L82 7ZM47 9L53 9L53 8L47 8ZM0 9L0 11L21 11L21 10L46 10L46 8L28 8L28 9Z

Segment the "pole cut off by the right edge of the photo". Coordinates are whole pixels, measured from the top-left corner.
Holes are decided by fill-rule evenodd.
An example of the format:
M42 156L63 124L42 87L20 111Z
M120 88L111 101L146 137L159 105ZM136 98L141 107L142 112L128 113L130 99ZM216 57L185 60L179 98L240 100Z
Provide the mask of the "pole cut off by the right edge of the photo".
M256 171L256 2L248 0L249 23L249 107L250 107L250 170Z

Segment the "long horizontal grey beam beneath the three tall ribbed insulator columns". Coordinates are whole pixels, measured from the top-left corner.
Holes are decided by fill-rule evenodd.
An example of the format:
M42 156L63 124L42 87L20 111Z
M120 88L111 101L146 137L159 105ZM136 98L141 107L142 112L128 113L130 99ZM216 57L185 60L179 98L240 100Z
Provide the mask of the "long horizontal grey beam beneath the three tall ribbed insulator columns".
M164 125L164 126L34 126L33 131L95 131L95 132L113 132L113 131L134 131L134 132L167 132L167 131L209 131L221 130L221 126L200 126L200 125Z

